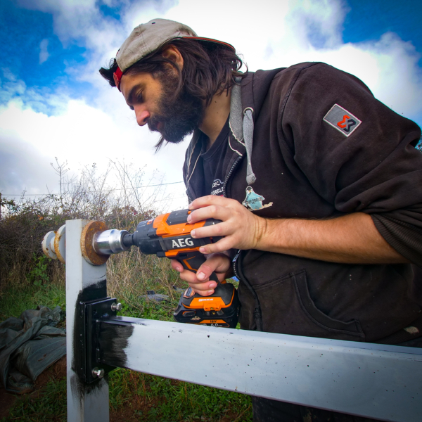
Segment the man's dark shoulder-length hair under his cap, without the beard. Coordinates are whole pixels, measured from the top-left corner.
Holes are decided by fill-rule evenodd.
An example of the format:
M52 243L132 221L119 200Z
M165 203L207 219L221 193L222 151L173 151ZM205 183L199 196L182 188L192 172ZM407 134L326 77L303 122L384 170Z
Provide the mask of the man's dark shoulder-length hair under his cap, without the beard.
M183 57L184 65L181 71L176 63L162 56L162 52L170 45L175 46ZM210 104L215 94L221 94L225 89L236 84L236 77L243 78L247 73L239 72L243 64L241 58L224 44L175 38L136 62L124 72L124 75L147 72L157 77L165 73L165 63L170 63L179 74L179 84L174 97L181 89L185 89L188 94L205 101L206 106ZM115 58L112 58L109 68L99 70L112 87L115 87L113 73L116 69L117 62Z

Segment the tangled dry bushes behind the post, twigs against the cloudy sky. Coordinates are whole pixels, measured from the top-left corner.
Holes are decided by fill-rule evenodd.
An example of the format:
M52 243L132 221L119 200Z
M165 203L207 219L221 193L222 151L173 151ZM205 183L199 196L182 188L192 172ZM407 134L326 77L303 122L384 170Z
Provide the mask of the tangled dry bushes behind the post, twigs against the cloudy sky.
M0 292L11 284L63 282L63 265L44 260L41 241L66 220L101 220L110 228L133 231L140 221L158 215L156 203L163 206L167 200L157 174L145 181L143 170L131 165L110 161L109 170L103 174L98 174L96 165L84 167L78 179L67 177L65 165L57 159L52 165L60 179L58 195L26 200L23 196L18 202L0 196ZM113 177L110 185L108 181ZM156 185L157 181L151 193L148 185ZM136 254L130 256L142 260ZM161 265L149 258L146 261L155 267ZM110 261L111 267L116 267L115 262L121 262L124 270L131 269L132 273L134 268L139 269L139 264L129 264L127 258Z

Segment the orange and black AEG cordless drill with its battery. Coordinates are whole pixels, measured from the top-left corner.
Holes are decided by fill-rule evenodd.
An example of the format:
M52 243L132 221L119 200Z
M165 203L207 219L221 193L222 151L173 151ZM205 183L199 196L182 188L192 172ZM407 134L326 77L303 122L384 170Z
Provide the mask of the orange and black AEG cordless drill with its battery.
M199 252L200 246L215 243L221 237L195 239L191 237L191 231L221 223L221 220L206 219L189 224L187 217L190 212L179 210L140 222L134 234L122 237L122 243L127 248L135 245L146 255L156 254L178 260L184 269L196 273L206 260ZM205 297L195 293L191 287L187 288L174 311L174 319L187 324L236 328L240 309L236 288L225 280L219 283L215 272L210 280L217 283L214 293Z

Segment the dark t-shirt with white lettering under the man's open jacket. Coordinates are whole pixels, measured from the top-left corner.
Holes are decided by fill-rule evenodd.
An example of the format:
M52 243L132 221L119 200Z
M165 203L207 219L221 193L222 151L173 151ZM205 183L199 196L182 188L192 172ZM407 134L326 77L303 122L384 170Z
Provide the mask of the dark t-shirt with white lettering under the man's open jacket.
M207 136L205 136L205 134L201 136L203 146L200 156L203 159L204 191L207 195L223 196L223 162L229 143L229 133L229 118L227 118L222 132L219 133L209 150L206 149Z

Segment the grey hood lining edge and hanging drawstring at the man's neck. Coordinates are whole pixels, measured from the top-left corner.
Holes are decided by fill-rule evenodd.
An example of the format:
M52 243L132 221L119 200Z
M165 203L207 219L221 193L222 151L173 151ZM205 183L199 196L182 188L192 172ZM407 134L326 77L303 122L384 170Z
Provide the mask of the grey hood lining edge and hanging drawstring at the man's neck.
M236 79L240 83L241 79ZM242 99L241 99L241 86L234 85L231 87L231 101L230 101L230 119L229 125L231 132L234 134L236 140L243 143L246 148L246 183L253 184L256 181L255 174L252 170L252 143L253 143L253 109L250 107L245 108L242 113Z

